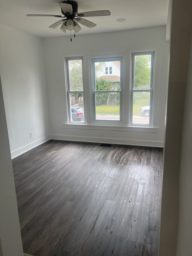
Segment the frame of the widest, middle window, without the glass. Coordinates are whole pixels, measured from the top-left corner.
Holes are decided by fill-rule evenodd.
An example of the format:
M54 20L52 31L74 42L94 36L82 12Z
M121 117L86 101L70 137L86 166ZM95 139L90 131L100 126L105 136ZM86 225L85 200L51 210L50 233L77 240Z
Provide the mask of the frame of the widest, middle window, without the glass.
M115 55L115 56L114 56ZM104 58L101 58L98 56L94 56L94 58L91 58L91 74L92 74L92 107L93 107L93 124L94 125L114 125L114 126L121 126L122 125L122 70L123 70L123 56L116 57L116 54L110 55ZM120 68L120 91L96 91L95 90L95 62L105 62L105 61L121 61L121 68ZM111 74L110 74L111 75ZM120 93L120 114L119 119L120 120L99 120L96 119L96 101L95 101L95 95L96 93L101 92L119 92Z

